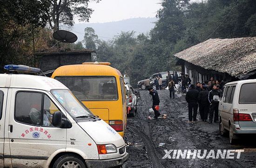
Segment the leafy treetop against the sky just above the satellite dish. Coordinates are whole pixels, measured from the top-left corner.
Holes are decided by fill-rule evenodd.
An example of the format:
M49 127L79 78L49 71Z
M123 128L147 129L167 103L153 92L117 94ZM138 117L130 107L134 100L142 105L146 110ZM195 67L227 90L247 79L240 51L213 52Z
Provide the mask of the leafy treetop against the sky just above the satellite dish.
M74 16L80 21L88 21L93 10L88 8L88 2L100 0L40 0L50 7L47 13L50 27L56 31L60 28L60 23L68 26L74 25Z

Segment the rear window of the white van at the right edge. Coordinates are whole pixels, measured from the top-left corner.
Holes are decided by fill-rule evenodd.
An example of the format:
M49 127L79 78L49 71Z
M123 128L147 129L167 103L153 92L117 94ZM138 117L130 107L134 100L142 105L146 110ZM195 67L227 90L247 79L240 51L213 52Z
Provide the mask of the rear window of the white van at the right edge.
M256 83L245 83L242 85L239 104L256 104Z

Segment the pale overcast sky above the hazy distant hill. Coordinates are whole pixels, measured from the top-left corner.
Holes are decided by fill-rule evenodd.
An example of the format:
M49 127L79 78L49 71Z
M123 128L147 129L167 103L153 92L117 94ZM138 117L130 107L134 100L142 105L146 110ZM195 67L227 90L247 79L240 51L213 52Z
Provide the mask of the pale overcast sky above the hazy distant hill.
M99 3L90 2L94 10L89 23L105 23L130 18L152 18L161 8L162 0L101 0ZM200 1L201 0L190 0ZM75 23L79 23L76 19Z

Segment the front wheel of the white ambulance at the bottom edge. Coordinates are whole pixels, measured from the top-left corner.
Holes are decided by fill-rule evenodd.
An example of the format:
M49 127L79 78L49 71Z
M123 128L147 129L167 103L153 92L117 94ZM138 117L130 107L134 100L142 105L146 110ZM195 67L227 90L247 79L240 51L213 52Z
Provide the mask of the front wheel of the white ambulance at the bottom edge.
M85 163L74 155L63 155L55 162L53 168L86 168Z

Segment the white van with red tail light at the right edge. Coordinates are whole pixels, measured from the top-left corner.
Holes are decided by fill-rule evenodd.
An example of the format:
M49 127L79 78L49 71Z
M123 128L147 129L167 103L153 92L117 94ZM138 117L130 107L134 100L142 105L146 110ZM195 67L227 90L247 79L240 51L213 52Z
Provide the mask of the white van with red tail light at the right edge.
M256 80L224 85L219 103L219 119L220 134L229 131L231 144L239 134L256 134Z

